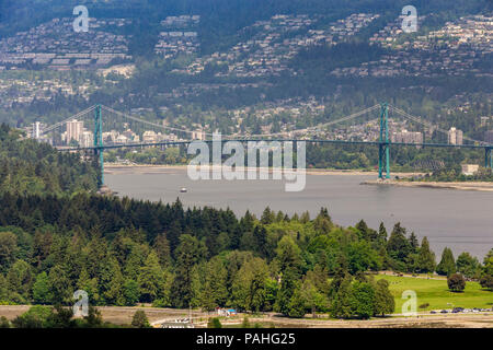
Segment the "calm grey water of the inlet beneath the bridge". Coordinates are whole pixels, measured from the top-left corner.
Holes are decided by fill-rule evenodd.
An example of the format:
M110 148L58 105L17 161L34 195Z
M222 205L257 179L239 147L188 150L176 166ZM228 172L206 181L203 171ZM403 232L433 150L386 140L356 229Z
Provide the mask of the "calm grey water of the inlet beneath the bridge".
M383 221L390 233L398 221L421 238L427 236L439 258L445 246L455 256L469 252L481 260L493 248L493 194L480 191L359 185L371 176L307 175L300 192L284 191L280 180L188 179L185 170L111 170L106 184L121 196L172 202L185 207L246 209L260 215L265 207L293 214L316 215L329 208L334 222L354 225L359 219L378 229ZM180 188L188 191L181 194Z

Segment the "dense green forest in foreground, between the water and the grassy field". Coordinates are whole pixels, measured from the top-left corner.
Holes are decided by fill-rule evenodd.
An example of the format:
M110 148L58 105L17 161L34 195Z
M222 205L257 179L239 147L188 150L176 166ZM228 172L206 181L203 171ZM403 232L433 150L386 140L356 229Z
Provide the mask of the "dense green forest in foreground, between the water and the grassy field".
M363 221L344 229L324 209L313 220L266 209L257 220L248 212L237 219L230 210L184 210L180 201L84 194L7 194L0 200L2 303L70 304L82 289L93 305L367 318L394 310L388 285L367 271L459 270L492 288L492 253L482 267L468 254L456 266L445 252L437 267L427 240L420 245L400 224L390 235L383 225L375 231Z

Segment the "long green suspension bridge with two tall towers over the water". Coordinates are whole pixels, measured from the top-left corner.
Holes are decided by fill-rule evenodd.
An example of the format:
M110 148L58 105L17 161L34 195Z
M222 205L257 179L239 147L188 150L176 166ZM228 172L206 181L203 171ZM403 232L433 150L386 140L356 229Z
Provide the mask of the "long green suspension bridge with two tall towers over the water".
M378 121L379 125L379 133L378 138L375 141L362 141L362 140L340 140L340 139L323 139L323 138L307 138L307 135L310 133L320 133L326 128L342 122L347 122L349 120L356 119L362 116L370 115L371 113L379 112L378 117L374 120ZM108 119L105 119L103 121L103 112L105 115L108 116ZM390 178L390 148L391 147L421 147L421 148L450 148L450 149L457 149L457 148L465 148L465 149L483 149L484 150L484 167L493 168L493 158L492 158L492 150L493 144L486 143L484 141L480 140L473 140L467 137L463 137L463 143L460 144L454 144L454 143L434 143L434 142L391 142L389 135L389 112L394 113L397 116L403 117L408 121L414 122L416 125L420 125L424 128L428 128L428 130L436 130L443 133L448 135L447 130L440 129L425 120L422 120L420 117L413 116L401 108L394 107L392 105L389 105L388 103L381 103L379 105L375 105L372 107L363 109L360 112L351 114L348 116L344 116L342 118L339 118L336 120L330 120L324 124L320 124L313 127L308 127L303 129L297 129L297 130L290 130L290 131L282 131L282 132L275 132L275 133L263 133L263 135L248 135L244 137L239 136L222 136L221 142L227 141L238 141L238 142L260 142L260 141L278 141L278 142L293 142L296 144L296 142L307 142L307 143L317 143L317 144L324 144L324 143L331 143L331 144L368 144L368 145L375 145L378 148L378 177L380 179L388 179ZM103 142L103 126L111 125L111 117L116 116L121 120L118 122L122 122L122 120L126 122L139 122L141 125L145 125L147 127L152 127L154 129L161 129L168 132L176 132L181 135L190 135L186 139L181 140L164 140L159 142L125 142L125 143L114 143L114 142ZM171 145L187 145L193 141L196 141L194 139L193 135L196 131L191 131L187 129L183 129L180 127L172 127L164 124L157 124L149 120L146 120L140 117L136 117L134 115L129 115L126 113L122 113L118 110L115 110L113 108L103 106L103 105L94 105L90 108L87 108L73 116L70 116L69 118L61 120L57 124L54 124L51 126L48 126L44 128L39 135L39 137L47 136L50 132L56 132L57 130L60 130L67 124L74 119L92 119L92 122L94 125L94 133L93 133L93 141L92 144L88 145L77 145L77 147L62 147L58 148L60 151L90 151L99 159L99 164L101 167L101 178L100 178L100 185L104 184L104 151L111 150L111 149L122 149L122 148L146 148L146 147L171 147ZM113 121L114 122L114 121ZM116 124L114 124L116 125ZM213 139L207 139L207 137L213 136L213 133L204 133L206 136L205 140L202 140L204 142L213 142ZM303 138L297 138L296 135L305 135ZM289 136L289 137L287 137ZM295 136L295 137L293 137Z

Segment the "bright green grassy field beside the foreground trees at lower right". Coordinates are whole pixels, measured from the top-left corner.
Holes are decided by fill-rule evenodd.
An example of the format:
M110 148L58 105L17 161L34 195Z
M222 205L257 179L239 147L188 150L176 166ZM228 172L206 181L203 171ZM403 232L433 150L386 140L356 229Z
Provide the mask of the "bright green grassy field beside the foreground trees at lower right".
M462 293L452 293L448 290L447 280L435 280L413 277L398 276L376 276L376 280L386 279L389 281L390 291L395 298L395 313L401 313L402 292L413 290L417 295L417 306L428 303L425 308L417 308L417 312L443 310L452 307L481 307L491 308L493 306L493 292L483 290L478 282L467 282Z

